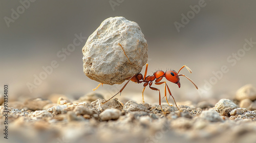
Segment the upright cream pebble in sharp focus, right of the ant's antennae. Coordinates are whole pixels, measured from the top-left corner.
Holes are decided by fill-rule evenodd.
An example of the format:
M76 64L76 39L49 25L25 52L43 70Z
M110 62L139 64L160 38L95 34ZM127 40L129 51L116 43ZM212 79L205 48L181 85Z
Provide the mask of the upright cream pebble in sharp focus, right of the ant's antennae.
M218 103L215 104L215 109L218 110L218 112L221 112L225 108L230 107L231 109L238 108L237 104L234 104L229 99L221 99Z

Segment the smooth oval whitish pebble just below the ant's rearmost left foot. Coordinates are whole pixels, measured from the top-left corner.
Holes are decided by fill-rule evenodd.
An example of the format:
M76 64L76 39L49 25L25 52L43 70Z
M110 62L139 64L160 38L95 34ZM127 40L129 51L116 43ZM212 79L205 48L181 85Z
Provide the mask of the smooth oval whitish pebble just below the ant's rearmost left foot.
M102 121L117 120L120 116L121 111L118 109L106 109L99 114Z

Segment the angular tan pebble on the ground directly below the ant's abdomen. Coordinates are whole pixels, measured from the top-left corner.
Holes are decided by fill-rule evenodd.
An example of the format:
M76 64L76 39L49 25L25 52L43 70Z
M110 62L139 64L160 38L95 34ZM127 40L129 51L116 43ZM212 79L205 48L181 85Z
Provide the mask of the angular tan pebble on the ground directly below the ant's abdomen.
M128 101L123 105L123 110L127 112L132 112L132 111L148 111L145 106L142 104L138 104L134 101Z

